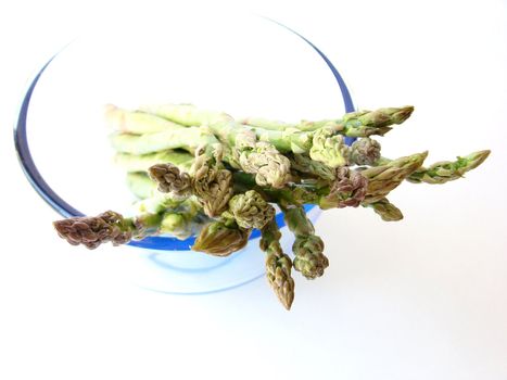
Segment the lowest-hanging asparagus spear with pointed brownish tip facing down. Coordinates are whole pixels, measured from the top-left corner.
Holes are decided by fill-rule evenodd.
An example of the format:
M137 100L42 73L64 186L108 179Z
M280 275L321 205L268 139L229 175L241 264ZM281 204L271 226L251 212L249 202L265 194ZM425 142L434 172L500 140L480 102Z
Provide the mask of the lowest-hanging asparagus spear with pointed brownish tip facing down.
M261 232L259 246L266 252L266 278L278 300L289 311L294 300L291 258L281 249L281 233L275 219L270 219Z

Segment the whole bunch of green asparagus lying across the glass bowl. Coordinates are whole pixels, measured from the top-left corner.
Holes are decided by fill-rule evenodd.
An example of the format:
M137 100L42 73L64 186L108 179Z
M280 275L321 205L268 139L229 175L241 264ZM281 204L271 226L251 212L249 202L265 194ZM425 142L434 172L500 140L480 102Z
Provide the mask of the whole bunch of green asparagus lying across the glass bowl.
M384 136L414 107L345 114L340 119L286 124L251 117L235 119L190 104L105 107L113 129L114 161L139 199L131 216L105 212L54 223L71 244L94 249L131 239L170 233L197 236L192 250L227 256L261 230L266 276L282 305L294 299L292 268L307 279L329 265L324 241L303 208L369 207L383 220L403 218L388 194L404 180L445 183L461 178L490 154L422 166L428 152L391 160L371 136ZM346 139L355 138L347 144ZM277 205L294 235L293 258L282 251L275 221Z

